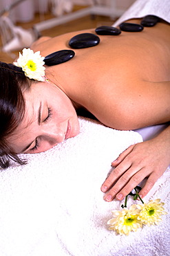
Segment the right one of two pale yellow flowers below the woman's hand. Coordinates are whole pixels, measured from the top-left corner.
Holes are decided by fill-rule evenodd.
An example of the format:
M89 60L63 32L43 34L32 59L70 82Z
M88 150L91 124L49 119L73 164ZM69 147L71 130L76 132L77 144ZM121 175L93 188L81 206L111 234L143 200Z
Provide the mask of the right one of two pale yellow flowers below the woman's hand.
M149 203L144 203L143 205L136 205L140 210L138 220L148 226L151 226L152 224L158 225L158 222L161 221L160 216L162 214L167 214L167 212L164 212L163 205L164 203L160 202L160 199L154 201L151 200Z

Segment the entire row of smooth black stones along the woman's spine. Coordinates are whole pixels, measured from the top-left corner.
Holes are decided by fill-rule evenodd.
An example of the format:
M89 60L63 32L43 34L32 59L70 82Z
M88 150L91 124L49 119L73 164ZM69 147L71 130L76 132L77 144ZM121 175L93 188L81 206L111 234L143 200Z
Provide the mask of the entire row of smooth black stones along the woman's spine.
M95 32L98 35L120 35L121 30L126 32L140 32L144 27L155 26L160 19L154 15L145 16L140 24L133 24L123 22L120 24L120 29L112 26L100 26L96 28ZM69 46L74 49L88 48L96 46L100 43L100 38L92 33L82 33L72 37L69 41ZM45 65L54 66L67 62L74 57L75 53L72 50L56 51L50 55L47 55L44 59Z

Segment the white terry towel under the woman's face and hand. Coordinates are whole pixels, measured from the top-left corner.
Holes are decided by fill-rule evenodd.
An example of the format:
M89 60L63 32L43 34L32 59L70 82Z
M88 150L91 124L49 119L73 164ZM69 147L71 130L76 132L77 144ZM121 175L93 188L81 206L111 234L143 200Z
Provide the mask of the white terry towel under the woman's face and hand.
M23 155L28 165L1 171L0 255L168 255L169 214L159 226L146 226L129 237L120 237L106 226L111 210L119 210L123 202L105 202L100 185L111 161L142 141L141 136L85 118L79 121L78 136L47 152ZM157 198L169 211L169 172L145 201Z

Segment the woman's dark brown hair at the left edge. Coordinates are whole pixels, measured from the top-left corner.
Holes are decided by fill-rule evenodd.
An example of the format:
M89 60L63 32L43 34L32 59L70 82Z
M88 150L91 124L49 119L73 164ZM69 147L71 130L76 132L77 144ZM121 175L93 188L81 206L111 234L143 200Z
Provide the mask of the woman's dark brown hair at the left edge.
M21 160L9 145L8 138L18 127L25 113L21 89L29 88L29 80L21 68L0 62L0 166L10 166L10 160L21 165Z

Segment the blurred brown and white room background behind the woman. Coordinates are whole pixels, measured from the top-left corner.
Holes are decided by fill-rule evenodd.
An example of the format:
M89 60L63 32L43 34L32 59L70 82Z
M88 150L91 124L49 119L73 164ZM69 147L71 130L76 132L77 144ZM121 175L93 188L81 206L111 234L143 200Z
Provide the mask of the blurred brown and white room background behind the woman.
M41 36L111 26L135 0L0 0L0 61Z

